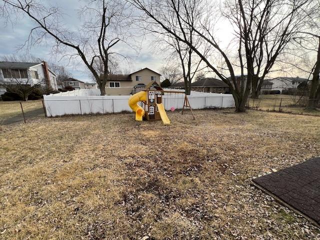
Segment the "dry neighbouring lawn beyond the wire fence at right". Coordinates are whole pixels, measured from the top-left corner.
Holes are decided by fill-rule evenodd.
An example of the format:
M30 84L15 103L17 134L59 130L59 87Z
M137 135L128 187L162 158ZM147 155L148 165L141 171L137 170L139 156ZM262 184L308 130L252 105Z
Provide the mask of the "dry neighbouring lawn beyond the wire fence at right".
M259 95L259 99L249 98L248 104L254 109L320 116L320 109L305 110L307 97L300 98L301 96L283 94Z

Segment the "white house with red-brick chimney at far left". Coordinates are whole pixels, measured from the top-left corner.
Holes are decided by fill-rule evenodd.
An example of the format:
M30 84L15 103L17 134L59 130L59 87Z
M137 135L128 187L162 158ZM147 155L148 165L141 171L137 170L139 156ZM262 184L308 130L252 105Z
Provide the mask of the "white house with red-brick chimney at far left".
M45 61L13 62L0 61L0 84L40 84L57 90L56 74L50 70ZM2 86L0 94L5 91Z

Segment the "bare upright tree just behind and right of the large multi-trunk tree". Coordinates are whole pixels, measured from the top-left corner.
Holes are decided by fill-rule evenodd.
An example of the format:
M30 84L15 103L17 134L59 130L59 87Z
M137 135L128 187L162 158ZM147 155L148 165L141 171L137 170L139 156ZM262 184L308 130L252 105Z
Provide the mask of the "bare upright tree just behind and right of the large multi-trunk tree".
M223 15L235 29L240 68L258 97L264 77L279 54L312 20L318 9L312 0L226 0ZM241 49L243 47L243 51Z

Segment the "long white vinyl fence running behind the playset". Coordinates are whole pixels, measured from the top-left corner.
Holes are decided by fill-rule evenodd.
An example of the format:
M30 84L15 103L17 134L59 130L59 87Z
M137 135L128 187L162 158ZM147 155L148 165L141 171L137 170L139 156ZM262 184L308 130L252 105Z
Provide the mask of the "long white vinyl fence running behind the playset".
M97 94L95 90L98 89L75 90L81 91L74 93L75 95L60 95L61 93L43 95L47 116L61 116L69 114L106 114L121 111L132 111L128 106L128 99L130 96L90 95ZM188 99L192 109L234 107L234 100L231 94L191 91L191 94L188 95ZM166 110L170 110L172 106L174 108L181 109L183 101L183 93L165 93L162 96L162 103Z

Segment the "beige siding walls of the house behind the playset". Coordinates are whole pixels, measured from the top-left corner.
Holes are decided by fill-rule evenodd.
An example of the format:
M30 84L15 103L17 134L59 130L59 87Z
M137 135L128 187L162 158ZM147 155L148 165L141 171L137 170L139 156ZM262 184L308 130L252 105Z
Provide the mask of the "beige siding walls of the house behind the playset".
M141 76L140 81L135 80L135 76ZM151 81L151 76L156 77L156 82L160 84L160 74L150 71L148 69L143 69L134 74L131 74L131 81L115 81L120 82L120 87L109 87L109 82L106 82L105 94L107 95L130 95L133 86L138 83L144 83L145 85ZM111 81L113 82L113 81Z

